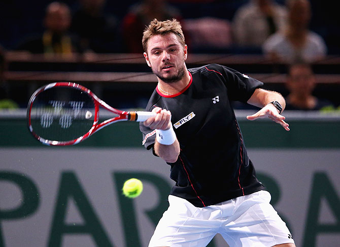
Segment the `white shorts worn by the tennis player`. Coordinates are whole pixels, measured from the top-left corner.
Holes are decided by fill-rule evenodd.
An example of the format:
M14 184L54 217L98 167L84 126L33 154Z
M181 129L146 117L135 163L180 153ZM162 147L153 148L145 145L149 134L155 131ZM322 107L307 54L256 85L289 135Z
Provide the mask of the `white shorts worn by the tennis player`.
M270 194L259 191L217 205L195 207L169 196L169 208L160 219L149 247L204 247L220 233L232 247L270 247L294 243Z

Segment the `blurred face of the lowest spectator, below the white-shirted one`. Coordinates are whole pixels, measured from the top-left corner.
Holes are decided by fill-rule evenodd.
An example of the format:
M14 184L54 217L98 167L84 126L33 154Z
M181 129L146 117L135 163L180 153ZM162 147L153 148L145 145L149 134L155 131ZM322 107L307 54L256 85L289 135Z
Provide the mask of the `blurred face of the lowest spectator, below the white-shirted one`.
M315 86L314 73L309 65L297 64L289 69L288 89L299 95L310 95Z

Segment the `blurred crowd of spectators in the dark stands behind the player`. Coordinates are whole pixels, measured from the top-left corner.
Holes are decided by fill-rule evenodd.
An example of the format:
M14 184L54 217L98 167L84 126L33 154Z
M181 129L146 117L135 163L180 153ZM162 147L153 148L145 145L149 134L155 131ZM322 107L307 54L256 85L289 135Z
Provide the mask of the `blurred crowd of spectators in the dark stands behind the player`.
M286 63L287 109L320 109L330 103L312 96L315 80L311 64L324 58L328 48L323 37L309 27L312 20L309 0L230 1L243 4L235 8L229 19L211 15L185 18L183 10L175 7L178 2L195 5L215 1L142 0L132 4L120 18L106 11L106 0L78 0L72 6L51 2L41 20L44 30L21 37L11 49L50 56L142 53L145 26L154 18L176 18L182 23L190 52L258 53ZM0 49L3 54L3 48ZM3 55L1 59L4 71ZM2 78L0 99L4 101L6 83Z

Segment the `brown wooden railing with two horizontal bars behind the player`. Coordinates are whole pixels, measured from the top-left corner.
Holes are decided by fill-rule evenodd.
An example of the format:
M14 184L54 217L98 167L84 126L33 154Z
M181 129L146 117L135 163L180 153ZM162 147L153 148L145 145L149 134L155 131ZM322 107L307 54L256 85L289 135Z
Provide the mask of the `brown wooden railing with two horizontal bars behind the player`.
M7 81L78 81L78 82L135 82L155 83L143 54L74 54L72 56L46 56L27 52L6 53L9 70ZM285 64L276 64L263 55L189 54L188 68L217 63L264 83L284 83ZM328 56L313 64L316 80L320 84L340 83L340 56Z

